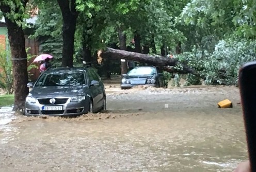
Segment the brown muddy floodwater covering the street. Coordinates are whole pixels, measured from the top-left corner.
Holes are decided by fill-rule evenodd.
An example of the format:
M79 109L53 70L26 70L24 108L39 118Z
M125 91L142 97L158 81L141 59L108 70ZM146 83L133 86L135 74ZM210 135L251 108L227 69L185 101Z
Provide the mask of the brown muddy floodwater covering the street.
M108 111L77 118L0 109L0 171L232 171L248 158L235 87L106 91Z

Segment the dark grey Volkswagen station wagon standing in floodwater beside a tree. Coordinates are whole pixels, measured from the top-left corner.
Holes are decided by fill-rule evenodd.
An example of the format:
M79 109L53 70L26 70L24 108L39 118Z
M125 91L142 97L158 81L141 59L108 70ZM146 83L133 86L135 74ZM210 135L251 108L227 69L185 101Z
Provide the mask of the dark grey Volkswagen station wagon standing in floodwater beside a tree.
M56 67L43 72L26 97L26 115L77 116L106 109L104 84L93 67Z

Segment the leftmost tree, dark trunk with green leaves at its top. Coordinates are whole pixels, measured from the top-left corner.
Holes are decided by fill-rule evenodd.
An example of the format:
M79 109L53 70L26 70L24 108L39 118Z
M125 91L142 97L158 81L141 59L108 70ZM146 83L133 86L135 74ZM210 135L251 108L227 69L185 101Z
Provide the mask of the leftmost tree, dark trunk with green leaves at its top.
M26 84L28 82L27 54L22 23L25 16L25 8L28 0L0 1L0 9L4 15L8 29L8 38L11 47L11 60L14 88L14 109L23 110L25 98L28 94Z

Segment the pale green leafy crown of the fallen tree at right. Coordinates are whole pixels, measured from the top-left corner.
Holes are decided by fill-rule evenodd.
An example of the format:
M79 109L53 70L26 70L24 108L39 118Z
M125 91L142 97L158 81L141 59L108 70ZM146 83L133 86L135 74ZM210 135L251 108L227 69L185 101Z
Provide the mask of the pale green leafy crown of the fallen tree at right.
M255 49L256 41L228 39L219 41L213 53L205 50L202 56L202 51L194 48L178 58L188 61L188 66L205 76L205 84L216 84L213 81L215 78L218 84L237 85L239 68L246 62L256 60ZM187 78L187 84L194 84L195 81L199 82L199 78Z

